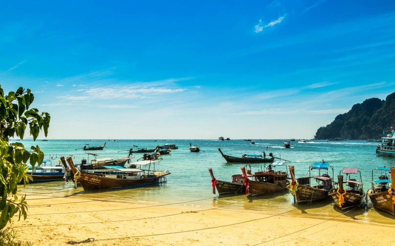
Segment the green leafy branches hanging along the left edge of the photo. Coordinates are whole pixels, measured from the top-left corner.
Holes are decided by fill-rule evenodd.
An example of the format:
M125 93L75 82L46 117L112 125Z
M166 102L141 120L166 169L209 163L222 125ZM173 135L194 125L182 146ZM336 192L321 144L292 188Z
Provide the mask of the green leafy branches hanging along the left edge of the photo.
M26 174L27 161L34 168L44 160L44 152L38 146L32 146L33 152L29 152L22 143L9 143L10 137L15 135L23 139L27 125L33 140L37 139L41 130L47 135L50 115L44 112L39 114L38 109L30 108L33 101L34 95L30 89L20 87L16 92L4 95L0 85L0 230L11 222L15 214L19 214L19 220L21 216L26 219L26 196L18 198L18 183L23 179L26 185L29 179L32 180Z

